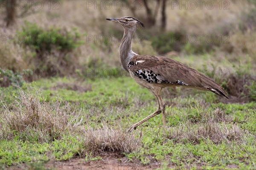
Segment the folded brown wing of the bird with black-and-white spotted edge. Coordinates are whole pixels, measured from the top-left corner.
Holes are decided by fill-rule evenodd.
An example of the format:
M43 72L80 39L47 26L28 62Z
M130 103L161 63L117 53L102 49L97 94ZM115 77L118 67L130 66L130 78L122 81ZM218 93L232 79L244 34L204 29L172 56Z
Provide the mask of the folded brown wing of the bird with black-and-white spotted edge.
M128 69L149 83L191 86L227 98L226 91L212 79L171 58L136 55L128 63Z

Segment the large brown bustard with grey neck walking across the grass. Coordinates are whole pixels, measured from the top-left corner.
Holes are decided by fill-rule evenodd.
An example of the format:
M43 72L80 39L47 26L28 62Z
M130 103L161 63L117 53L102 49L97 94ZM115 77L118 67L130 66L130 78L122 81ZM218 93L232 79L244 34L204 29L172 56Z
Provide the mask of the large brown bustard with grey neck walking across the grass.
M139 55L132 51L131 41L137 27L145 28L140 20L134 17L106 18L106 20L119 23L124 29L119 46L122 68L128 71L139 85L148 88L156 96L157 100L157 110L131 125L128 128L128 132L135 130L139 125L160 113L162 113L163 127L166 129L165 102L161 96L162 89L166 87L196 88L211 91L228 99L224 88L197 70L175 59L163 56Z

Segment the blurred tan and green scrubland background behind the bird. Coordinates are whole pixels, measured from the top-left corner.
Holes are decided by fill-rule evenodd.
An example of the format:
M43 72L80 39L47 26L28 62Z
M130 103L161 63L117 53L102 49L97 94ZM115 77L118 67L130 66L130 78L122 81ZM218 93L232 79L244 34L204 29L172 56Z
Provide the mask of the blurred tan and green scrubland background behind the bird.
M120 71L123 30L105 18L132 16L145 23L133 51L172 57L203 70L230 95L256 99L254 0L210 1L211 9L209 0L194 1L196 8L185 0L0 2L0 86L41 77L86 79L88 69Z

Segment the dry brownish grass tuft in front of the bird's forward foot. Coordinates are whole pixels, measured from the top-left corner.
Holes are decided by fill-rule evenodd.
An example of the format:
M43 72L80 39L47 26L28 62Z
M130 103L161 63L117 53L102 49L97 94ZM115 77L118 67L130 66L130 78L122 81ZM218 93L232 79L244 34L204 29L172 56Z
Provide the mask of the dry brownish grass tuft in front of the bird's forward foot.
M85 150L94 154L106 152L131 153L140 147L140 139L136 139L134 134L125 133L119 129L102 127L94 130L88 128L84 141Z

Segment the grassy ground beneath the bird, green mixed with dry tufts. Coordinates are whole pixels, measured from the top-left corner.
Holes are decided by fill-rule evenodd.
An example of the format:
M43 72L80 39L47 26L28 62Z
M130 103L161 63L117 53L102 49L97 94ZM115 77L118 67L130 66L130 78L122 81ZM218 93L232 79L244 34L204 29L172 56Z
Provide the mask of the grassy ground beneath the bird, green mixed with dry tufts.
M166 133L161 116L156 116L128 134L129 125L156 109L154 96L129 77L76 81L41 79L25 83L21 88L9 87L8 91L1 88L4 93L1 100L5 101L0 112L1 167L21 166L21 163L30 168L44 167L50 160L81 157L93 161L102 159L101 156L107 153L116 153L140 164L161 162L160 169L164 166L177 169L255 168L255 102L224 104L213 100L209 103L204 100L214 94L201 92L199 96L193 95L196 91L192 91L183 98L175 97L172 100L175 105L166 107ZM67 88L67 83L69 87L79 84L91 89ZM42 121L33 126L26 122L31 116L31 108L24 107L31 106L32 101L38 110L58 110L59 114L46 119L44 111L32 111L38 113L38 120ZM71 111L67 111L67 107ZM17 108L21 112L17 112ZM25 117L13 117L17 114ZM42 118L58 121L44 122ZM43 133L50 128L49 123L52 127L62 123L68 129L55 128L52 132L56 132L56 136L43 140L49 139L49 133ZM24 128L16 128L16 125ZM39 128L39 125L45 128Z

